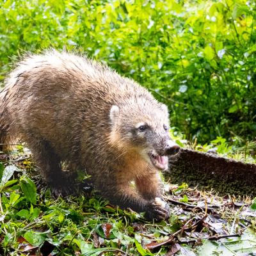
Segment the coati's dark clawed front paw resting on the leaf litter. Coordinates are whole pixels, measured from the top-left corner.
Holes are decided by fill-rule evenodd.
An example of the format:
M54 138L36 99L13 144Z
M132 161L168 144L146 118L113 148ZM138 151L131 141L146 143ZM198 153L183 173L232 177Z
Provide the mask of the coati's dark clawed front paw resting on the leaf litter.
M161 198L156 197L147 205L145 218L148 220L166 220L170 216L170 207Z

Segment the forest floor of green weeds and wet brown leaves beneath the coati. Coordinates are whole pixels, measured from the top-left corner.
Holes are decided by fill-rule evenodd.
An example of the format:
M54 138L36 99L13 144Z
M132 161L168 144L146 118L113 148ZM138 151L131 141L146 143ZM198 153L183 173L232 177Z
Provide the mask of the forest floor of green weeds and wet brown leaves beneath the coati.
M166 181L167 221L93 195L54 199L21 146L0 154L0 255L256 255L256 202Z

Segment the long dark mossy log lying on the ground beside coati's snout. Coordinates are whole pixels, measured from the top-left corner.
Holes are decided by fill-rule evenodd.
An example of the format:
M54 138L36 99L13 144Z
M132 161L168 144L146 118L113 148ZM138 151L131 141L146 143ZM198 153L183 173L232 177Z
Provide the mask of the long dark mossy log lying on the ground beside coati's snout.
M186 182L189 186L211 189L222 195L256 196L256 164L242 163L182 148L177 160L166 173L172 183Z

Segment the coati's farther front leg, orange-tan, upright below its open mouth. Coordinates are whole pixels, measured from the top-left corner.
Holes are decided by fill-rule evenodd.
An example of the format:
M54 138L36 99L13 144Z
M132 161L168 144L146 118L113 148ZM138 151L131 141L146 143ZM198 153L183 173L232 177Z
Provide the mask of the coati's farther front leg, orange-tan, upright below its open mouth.
M163 200L163 184L158 173L147 173L135 180L136 189L143 198L152 202L152 208L161 212L163 219L170 216L170 207ZM146 213L148 218L154 215L154 211Z

